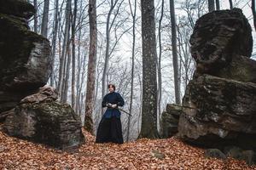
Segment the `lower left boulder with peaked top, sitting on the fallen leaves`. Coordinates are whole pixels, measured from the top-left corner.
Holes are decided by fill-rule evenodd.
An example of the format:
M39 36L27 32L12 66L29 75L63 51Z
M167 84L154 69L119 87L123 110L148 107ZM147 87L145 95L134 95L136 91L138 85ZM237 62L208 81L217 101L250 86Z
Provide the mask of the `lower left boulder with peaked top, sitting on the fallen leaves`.
M84 142L80 117L70 105L55 101L54 88L22 99L7 116L3 130L10 136L67 149Z

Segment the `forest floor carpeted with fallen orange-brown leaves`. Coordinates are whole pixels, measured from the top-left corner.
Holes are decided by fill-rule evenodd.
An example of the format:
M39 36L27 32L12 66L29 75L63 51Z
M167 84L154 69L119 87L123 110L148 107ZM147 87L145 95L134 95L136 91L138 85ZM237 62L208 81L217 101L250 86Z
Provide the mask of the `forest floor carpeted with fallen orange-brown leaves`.
M9 137L0 126L0 169L256 169L232 158L206 158L204 150L175 138L96 144L84 134L79 149L61 151Z

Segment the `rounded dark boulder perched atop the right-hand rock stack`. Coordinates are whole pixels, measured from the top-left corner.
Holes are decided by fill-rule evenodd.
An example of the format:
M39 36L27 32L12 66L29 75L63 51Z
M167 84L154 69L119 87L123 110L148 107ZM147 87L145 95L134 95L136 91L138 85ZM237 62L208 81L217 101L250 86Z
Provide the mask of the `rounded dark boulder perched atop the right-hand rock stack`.
M213 11L196 21L190 43L196 62L195 76L218 76L218 71L230 65L234 56L251 57L252 29L239 8Z

